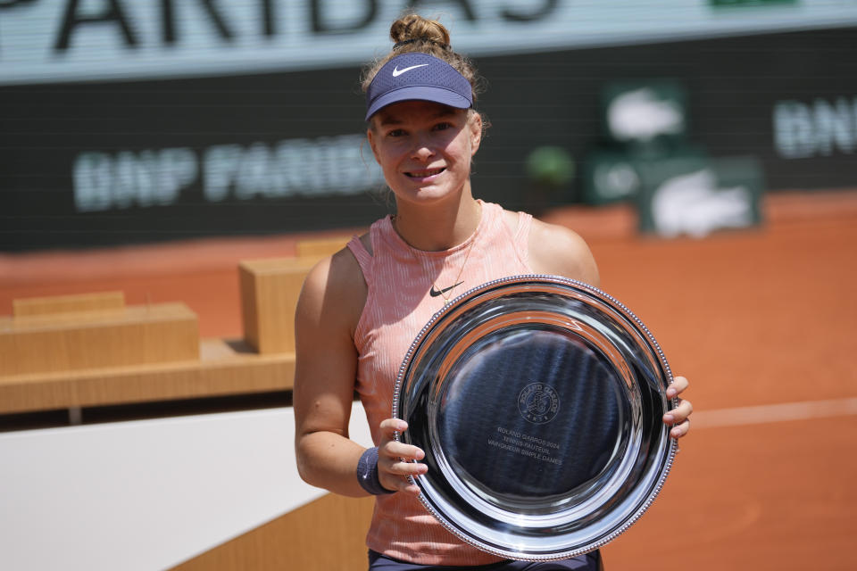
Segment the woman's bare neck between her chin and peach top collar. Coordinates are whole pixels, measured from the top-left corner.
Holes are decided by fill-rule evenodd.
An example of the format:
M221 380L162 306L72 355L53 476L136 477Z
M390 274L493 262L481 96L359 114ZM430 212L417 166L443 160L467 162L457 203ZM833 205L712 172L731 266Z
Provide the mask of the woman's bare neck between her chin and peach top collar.
M456 203L414 205L397 203L394 228L418 250L437 252L462 244L479 225L482 209L468 193Z

